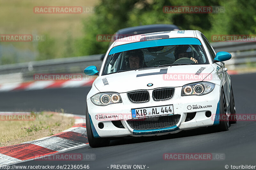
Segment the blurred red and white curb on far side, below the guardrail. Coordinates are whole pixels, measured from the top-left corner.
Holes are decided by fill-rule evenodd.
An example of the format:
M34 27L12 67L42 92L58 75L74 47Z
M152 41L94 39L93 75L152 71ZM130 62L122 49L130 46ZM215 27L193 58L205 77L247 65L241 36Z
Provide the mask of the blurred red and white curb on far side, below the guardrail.
M40 90L50 88L74 88L91 86L95 78L87 78L79 81L59 80L59 81L32 81L23 83L5 83L0 84L0 92L9 92L15 90Z

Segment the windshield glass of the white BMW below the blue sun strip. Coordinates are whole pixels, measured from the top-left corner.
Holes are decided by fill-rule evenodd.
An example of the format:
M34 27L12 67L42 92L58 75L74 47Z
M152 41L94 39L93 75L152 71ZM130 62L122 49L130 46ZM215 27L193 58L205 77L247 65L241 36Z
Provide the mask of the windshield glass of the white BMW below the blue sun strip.
M139 48L108 55L102 75L166 65L208 64L202 45Z

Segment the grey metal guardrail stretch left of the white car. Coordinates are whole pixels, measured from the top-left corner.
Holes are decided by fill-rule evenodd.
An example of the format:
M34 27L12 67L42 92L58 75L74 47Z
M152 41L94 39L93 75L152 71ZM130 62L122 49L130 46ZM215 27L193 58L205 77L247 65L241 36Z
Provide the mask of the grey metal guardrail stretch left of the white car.
M13 81L31 81L36 73L83 73L89 65L101 66L101 55L60 58L28 63L0 65L0 84ZM4 76L22 73L22 80L17 76Z

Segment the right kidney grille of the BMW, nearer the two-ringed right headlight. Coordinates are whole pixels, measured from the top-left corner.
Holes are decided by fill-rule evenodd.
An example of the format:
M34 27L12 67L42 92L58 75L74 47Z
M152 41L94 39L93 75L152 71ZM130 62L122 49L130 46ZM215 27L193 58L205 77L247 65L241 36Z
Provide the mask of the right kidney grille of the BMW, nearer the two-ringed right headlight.
M160 88L153 90L152 97L155 101L169 100L174 94L174 88Z

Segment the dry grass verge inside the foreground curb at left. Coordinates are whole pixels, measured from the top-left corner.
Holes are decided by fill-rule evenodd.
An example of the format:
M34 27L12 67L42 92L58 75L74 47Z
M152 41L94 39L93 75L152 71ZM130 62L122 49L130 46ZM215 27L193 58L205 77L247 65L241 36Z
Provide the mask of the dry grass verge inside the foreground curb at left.
M33 119L17 120L14 116L10 118L9 115L1 114L0 147L51 136L72 127L75 122L72 117L52 112L31 112L26 117Z

